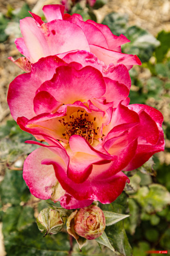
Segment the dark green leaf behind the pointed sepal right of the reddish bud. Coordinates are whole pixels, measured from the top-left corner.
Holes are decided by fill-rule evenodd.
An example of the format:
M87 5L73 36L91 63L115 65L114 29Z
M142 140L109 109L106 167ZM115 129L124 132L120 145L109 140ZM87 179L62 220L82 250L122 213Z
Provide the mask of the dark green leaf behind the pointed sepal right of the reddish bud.
M127 195L122 193L113 203L101 204L103 211L117 212L125 214L128 209ZM123 227L123 221L119 221L112 226L105 228L105 233L111 245L123 256L132 256L132 248L129 244L126 232Z

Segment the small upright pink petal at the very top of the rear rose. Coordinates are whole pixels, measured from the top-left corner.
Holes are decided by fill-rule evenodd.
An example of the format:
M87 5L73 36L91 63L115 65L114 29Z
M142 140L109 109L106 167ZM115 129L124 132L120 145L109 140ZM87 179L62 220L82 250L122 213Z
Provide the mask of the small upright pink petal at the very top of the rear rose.
M47 19L47 22L50 22L54 19L63 19L64 9L64 5L61 4L44 5L43 12Z

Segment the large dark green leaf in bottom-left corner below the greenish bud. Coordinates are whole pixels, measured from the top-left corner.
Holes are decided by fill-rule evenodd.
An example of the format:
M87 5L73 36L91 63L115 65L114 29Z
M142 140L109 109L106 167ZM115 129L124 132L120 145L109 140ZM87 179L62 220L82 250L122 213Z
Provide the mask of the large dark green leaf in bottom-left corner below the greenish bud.
M70 248L66 233L43 238L35 223L4 236L4 244L8 256L66 256Z

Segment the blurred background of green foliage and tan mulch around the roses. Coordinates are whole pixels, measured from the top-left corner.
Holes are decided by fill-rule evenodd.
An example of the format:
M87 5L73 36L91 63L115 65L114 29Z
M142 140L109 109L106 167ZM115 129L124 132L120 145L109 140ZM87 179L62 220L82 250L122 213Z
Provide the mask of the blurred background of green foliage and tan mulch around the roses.
M44 201L30 196L22 180L23 161L35 145L24 144L32 136L18 128L6 102L10 82L22 73L7 59L9 56L14 59L21 56L14 44L15 38L21 37L19 20L30 16L29 10L45 18L42 7L56 3L60 1L0 0L1 256L6 252L9 256L68 255L50 252L49 243L55 247L53 238L47 238L46 243L38 238L34 217L46 205ZM125 193L131 217L125 219L123 225L134 256L156 255L145 253L147 250L168 250L170 253L170 1L63 0L62 4L70 14L80 13L84 20L93 19L107 25L116 35L124 34L131 43L123 45L122 51L136 54L142 61L141 67L130 70L130 104L148 104L162 112L166 148L143 167L127 174L131 185L125 187ZM55 243L60 247L59 241L65 238L61 234L57 236ZM94 249L93 243L91 246L98 250ZM90 251L90 245L87 247L84 254L79 254L75 248L72 255L103 255L101 251ZM57 248L53 250L59 250ZM105 251L105 255L113 253Z

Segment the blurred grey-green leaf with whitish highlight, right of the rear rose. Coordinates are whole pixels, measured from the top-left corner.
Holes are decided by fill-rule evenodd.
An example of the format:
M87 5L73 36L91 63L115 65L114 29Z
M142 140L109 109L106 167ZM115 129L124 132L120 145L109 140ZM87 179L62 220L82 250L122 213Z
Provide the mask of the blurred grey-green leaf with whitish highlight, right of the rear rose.
M142 62L148 61L160 44L152 34L137 26L129 27L124 35L131 42L122 46L123 52L136 54Z

